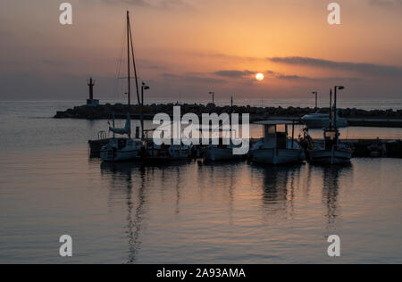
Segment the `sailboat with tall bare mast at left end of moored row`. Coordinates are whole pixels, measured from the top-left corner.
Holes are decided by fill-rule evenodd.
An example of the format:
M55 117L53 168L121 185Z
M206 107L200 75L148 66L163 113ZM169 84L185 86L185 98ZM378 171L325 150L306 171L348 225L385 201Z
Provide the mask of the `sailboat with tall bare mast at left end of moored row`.
M142 139L132 139L131 138L131 120L130 120L130 97L131 97L131 81L130 81L130 59L132 57L133 67L134 67L134 75L136 79L137 86L137 97L138 104L141 106L139 100L139 90L138 90L138 77L137 77L137 69L134 58L134 46L132 41L131 34L131 25L130 25L130 13L127 12L127 84L128 84L128 111L127 112L127 120L124 129L116 129L114 116L113 116L113 127L109 127L109 131L113 132L112 140L104 145L100 152L100 157L104 162L123 162L123 161L133 161L139 159L141 157L141 152L143 151L143 142ZM142 117L142 115L141 115ZM143 124L141 119L141 125ZM143 129L142 129L143 130ZM115 135L121 135L127 137L119 137L116 138ZM142 136L143 137L143 136Z

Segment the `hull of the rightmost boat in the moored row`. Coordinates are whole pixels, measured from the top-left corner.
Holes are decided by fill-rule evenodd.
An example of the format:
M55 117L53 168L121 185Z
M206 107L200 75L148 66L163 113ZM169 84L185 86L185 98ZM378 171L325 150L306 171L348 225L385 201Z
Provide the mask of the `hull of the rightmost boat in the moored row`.
M351 150L312 150L308 151L308 158L311 163L320 164L342 164L349 163L352 158Z

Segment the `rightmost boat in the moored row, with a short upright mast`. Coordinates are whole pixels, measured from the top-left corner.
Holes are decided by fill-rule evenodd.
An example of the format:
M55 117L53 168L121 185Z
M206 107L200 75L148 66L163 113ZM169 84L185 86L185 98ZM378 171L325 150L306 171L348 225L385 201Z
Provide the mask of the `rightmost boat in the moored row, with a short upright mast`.
M321 164L344 164L349 163L354 149L351 145L339 142L340 132L337 123L337 90L345 87L335 87L335 98L332 111L330 114L330 127L323 129L324 140L322 143L314 143L312 148L307 149L308 159L312 163ZM332 109L332 89L331 89L331 109Z

